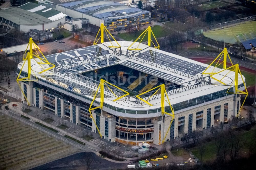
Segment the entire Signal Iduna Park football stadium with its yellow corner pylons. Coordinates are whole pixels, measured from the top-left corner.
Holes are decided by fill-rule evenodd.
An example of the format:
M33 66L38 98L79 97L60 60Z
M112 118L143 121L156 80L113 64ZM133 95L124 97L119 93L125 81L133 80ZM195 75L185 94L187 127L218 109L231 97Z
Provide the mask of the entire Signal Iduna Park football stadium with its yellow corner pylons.
M22 102L133 145L158 145L239 114L248 93L226 48L207 65L159 50L150 27L137 40L116 41L102 24L94 45L40 56L30 38L17 68Z

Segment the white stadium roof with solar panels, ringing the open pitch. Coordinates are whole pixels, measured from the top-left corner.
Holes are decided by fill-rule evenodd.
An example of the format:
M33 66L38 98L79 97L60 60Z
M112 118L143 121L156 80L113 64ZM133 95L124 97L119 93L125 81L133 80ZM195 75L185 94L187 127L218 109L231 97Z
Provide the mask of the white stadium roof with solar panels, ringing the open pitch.
M216 100L220 100L220 98L227 98L231 95L226 92L229 86L234 82L233 71L228 73L228 70L226 70L221 72L221 74L215 75L215 77L219 79L222 79L223 75L225 75L222 81L226 83L227 86L223 86L218 81L210 78L209 75L201 74L208 67L207 64L164 52L153 47L148 47L145 44L134 43L132 47L142 48L142 50L134 52L127 50L133 42L118 41L118 43L121 48L109 48L108 46L110 46L111 43L105 42L63 53L48 55L46 56L47 60L55 64L56 67L51 71L48 70L42 74L36 75L39 79L38 83L51 87L49 86L49 84L51 84L49 78L52 78L60 82L65 82L66 84L72 84L72 87L81 89L81 94L77 96L77 99L90 101L94 96L92 95L92 91L97 89L99 82L82 76L80 73L88 70L92 71L93 68L88 68L87 65L98 62L102 63L102 65L99 65L97 69L121 64L174 82L177 85L167 87L166 91L176 113L184 111L184 109L191 109L199 105L215 102ZM112 42L112 45L114 46L115 42ZM138 45L139 47L137 47ZM22 64L23 62L18 65L18 69L21 68ZM42 70L35 60L31 62L31 65L35 73ZM26 66L24 68L26 68ZM45 69L46 68L48 68L48 65L45 65ZM209 69L213 68L210 67ZM219 68L216 69L216 71L221 70ZM23 71L27 72L26 70ZM244 90L241 78L239 78L238 84L239 89ZM52 85L52 88L55 88L54 86L56 87L56 85ZM63 90L63 87L59 88L60 91L61 89ZM69 92L68 88L64 90L66 91L65 94ZM231 91L232 90L233 88L231 88ZM121 93L120 91L120 94ZM75 94L70 93L70 95ZM153 104L153 106L149 106L145 103L136 103L137 99L134 96L130 96L130 98L126 100L120 99L118 101L112 101L114 98L115 96L106 88L104 97L104 109L106 111L108 109L113 110L113 108L117 108L116 112L119 112L118 110L126 110L122 112L122 116L125 116L125 113L129 114L130 117L140 117L142 115L130 114L129 110L136 110L137 112L145 111L146 113L147 110L157 110L157 114L161 114L158 110L161 106L161 98L152 98L150 103ZM95 101L100 102L100 98L96 98ZM186 103L189 107L185 106ZM165 106L167 106L167 103ZM153 113L148 116L155 116L156 111ZM116 114L118 115L118 113Z

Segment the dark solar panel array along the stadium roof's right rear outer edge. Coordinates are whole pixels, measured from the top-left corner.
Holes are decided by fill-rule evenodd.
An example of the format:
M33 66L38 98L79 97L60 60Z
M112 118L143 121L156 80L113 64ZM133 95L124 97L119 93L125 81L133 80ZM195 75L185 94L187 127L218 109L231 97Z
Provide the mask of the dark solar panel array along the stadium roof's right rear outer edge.
M143 58L146 58L147 56L151 56L152 58L157 58L159 60L162 60L162 61L165 61L167 63L171 63L171 64L174 64L173 67L175 69L178 69L178 66L182 67L180 68L180 70L182 71L186 71L186 69L188 68L189 70L191 70L191 74L193 74L192 71L196 71L196 72L202 72L206 69L206 67L203 67L203 66L200 66L198 64L195 64L195 63L190 63L190 62L187 62L185 60L182 60L182 59L179 59L179 58L176 58L176 57L173 57L173 56L169 56L169 55L166 55L166 54L163 54L163 53L158 53L156 51L152 51L152 50L148 50L148 51L145 51L141 54L145 54L146 56L143 56Z

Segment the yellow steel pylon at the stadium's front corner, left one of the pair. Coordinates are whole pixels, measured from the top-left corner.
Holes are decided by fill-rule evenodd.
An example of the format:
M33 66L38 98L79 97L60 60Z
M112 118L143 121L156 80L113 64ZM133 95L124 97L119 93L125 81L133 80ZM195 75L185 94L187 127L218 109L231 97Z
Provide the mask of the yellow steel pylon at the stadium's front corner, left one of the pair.
M121 88L115 86L114 84L111 84L111 83L107 82L107 81L104 80L104 79L101 79L101 80L100 80L100 84L99 84L99 86L98 86L98 88L97 88L97 90L96 90L96 93L95 93L95 95L94 95L94 98L93 98L93 100L92 100L92 102L91 102L91 105L90 105L90 107L89 107L89 113L91 114L91 118L92 118L92 120L93 120L93 122L94 122L94 124L95 124L95 126L96 126L96 128L97 128L97 130L98 130L98 132L99 132L101 138L102 138L102 135L101 135L100 130L99 130L99 128L98 128L98 126L97 126L97 124L96 124L96 122L95 122L95 120L94 120L94 118L93 118L93 116L92 116L92 112L91 112L91 111L92 111L92 110L95 110L95 109L97 109L97 108L101 108L101 110L103 109L103 104L104 104L104 85L105 85L105 86L111 91L111 93L113 93L114 96L116 97L116 99L114 99L113 101L117 101L117 100L123 98L124 96L129 95L129 93L128 93L127 91L124 91L123 89L121 89ZM113 87L115 87L115 88L117 88L117 89L123 91L123 92L126 93L126 94L124 94L124 95L118 97L118 96L110 89L110 87L109 87L108 85L113 86ZM91 108L91 107L92 107L92 104L93 104L93 102L94 102L94 100L96 99L96 96L97 96L97 93L98 93L99 89L100 89L100 106Z

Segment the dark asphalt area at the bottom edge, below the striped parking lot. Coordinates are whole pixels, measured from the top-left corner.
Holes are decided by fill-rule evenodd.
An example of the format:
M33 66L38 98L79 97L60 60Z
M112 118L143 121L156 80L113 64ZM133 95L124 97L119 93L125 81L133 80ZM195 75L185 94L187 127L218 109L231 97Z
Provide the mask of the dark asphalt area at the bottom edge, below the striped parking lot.
M95 153L81 152L67 156L56 161L32 168L32 170L42 169L87 169L87 157L92 159L89 169L120 169L127 167L127 164L119 164L107 161Z

